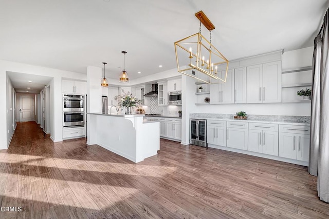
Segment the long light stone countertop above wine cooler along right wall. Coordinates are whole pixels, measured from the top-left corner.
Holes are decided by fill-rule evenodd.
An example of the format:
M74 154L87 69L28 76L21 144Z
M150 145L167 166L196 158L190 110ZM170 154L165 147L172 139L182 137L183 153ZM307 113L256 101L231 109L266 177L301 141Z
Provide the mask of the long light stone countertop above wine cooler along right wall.
M202 117L202 116L192 116L190 118L200 119L200 120L219 120L219 121L234 121L234 122L245 122L245 123L272 123L281 125L298 125L298 126L309 126L309 123L299 122L299 121L285 121L285 120L257 120L257 119L247 119L247 120L234 120L232 118L218 118L218 117Z

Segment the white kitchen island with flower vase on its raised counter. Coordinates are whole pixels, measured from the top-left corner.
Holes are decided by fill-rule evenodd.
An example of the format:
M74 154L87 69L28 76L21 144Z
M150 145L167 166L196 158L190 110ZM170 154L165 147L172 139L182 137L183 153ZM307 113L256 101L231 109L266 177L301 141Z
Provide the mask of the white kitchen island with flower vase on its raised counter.
M87 145L97 144L135 163L160 149L159 122L143 122L143 114L87 113Z

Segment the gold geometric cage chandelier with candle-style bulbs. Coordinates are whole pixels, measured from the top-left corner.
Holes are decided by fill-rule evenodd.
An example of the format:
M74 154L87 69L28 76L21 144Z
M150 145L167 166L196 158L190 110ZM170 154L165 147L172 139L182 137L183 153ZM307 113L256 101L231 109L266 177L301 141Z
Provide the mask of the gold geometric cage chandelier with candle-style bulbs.
M208 84L225 83L229 61L211 44L215 26L203 11L195 16L199 19L199 32L175 42L178 72ZM209 30L210 41L201 34L201 23Z

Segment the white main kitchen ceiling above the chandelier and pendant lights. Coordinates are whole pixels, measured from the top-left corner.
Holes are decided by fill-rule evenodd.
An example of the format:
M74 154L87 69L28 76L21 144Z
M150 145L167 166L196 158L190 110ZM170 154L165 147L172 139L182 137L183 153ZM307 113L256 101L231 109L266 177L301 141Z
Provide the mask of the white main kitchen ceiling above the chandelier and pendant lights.
M130 78L176 67L174 42L199 30L231 59L313 46L329 0L2 0L0 59L118 78L127 51ZM209 35L203 27L202 33ZM162 65L162 68L158 66ZM138 74L137 72L142 72Z

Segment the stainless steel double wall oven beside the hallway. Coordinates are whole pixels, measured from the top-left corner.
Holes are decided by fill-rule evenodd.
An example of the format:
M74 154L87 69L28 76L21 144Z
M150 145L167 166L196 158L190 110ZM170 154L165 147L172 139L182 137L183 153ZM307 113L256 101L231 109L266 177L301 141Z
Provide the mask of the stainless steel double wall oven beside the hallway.
M63 94L63 126L84 126L84 96Z

